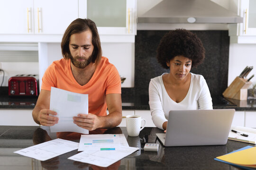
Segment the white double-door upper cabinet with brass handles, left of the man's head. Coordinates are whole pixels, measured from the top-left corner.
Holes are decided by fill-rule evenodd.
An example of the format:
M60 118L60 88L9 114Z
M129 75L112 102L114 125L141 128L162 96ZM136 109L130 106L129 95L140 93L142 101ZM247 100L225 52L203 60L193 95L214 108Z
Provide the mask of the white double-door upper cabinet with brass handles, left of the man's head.
M63 34L76 18L78 0L0 1L0 34Z

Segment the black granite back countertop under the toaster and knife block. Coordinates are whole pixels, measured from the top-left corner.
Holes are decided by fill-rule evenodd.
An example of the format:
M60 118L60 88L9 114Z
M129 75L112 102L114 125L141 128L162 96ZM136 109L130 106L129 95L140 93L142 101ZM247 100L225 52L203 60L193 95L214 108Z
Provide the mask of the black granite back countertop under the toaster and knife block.
M212 96L213 109L235 109L237 111L256 111L256 100L234 100ZM37 97L10 97L8 87L0 87L0 109L34 109ZM122 93L123 110L150 110L148 95Z

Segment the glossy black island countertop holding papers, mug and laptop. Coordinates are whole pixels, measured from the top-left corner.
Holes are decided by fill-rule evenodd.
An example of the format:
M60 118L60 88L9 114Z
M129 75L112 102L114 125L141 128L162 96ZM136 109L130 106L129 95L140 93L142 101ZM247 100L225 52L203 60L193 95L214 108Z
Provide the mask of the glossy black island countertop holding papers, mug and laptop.
M127 135L126 127L115 127L108 130L96 130L94 133L121 134L126 136L129 146L138 147L140 150L127 157L102 168L91 164L68 160L67 158L76 154L77 150L57 156L47 161L38 161L25 157L14 151L39 144L47 140L55 139L56 133L50 133L47 128L37 126L0 126L0 169L18 170L237 170L234 166L215 161L214 158L245 147L247 143L228 140L226 145L211 146L184 146L165 147L155 133L163 131L156 127L145 127L137 137ZM93 133L93 132L91 132ZM80 137L68 138L66 140L79 142ZM144 144L158 143L158 152L146 152ZM252 145L254 146L254 145Z

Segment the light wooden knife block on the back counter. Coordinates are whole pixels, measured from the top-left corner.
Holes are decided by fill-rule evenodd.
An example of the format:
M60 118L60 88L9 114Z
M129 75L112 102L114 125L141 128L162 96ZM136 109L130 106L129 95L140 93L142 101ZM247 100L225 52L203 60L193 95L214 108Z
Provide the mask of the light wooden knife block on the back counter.
M247 89L252 82L246 81L246 79L237 76L229 87L222 93L223 96L231 99L247 100Z

